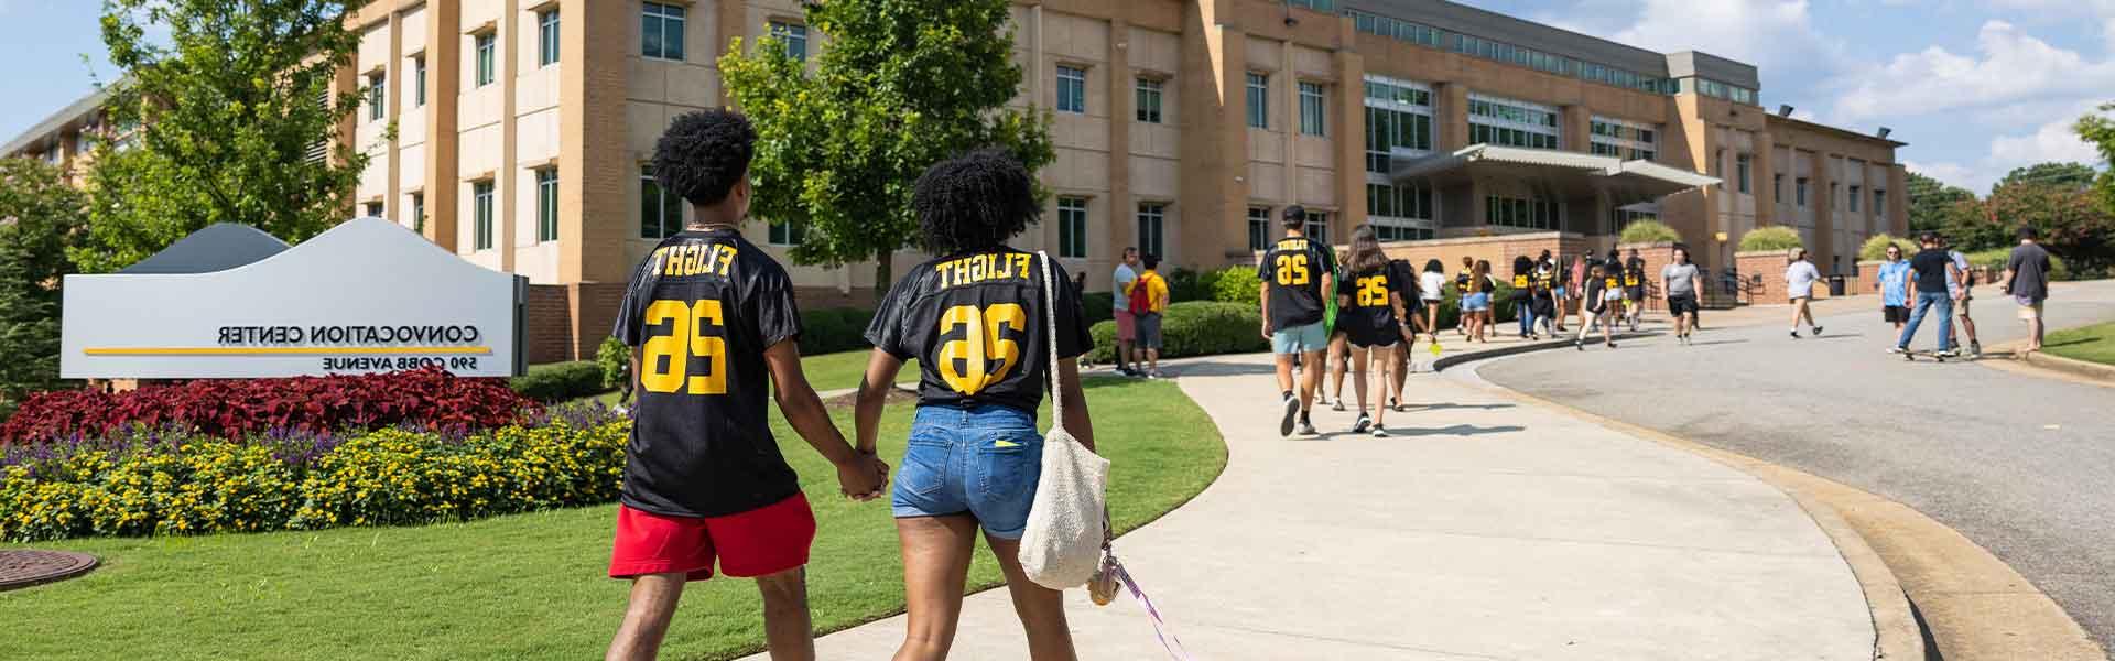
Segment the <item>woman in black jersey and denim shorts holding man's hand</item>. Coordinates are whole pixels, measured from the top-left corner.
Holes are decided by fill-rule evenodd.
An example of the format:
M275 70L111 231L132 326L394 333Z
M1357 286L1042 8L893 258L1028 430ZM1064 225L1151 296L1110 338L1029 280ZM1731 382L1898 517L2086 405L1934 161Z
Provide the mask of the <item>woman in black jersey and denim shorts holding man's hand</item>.
M979 530L1007 576L1026 657L1077 659L1064 593L1028 580L1019 551L1043 475L1045 386L1062 400L1064 428L1096 449L1079 386L1079 356L1093 345L1079 292L1064 267L1007 246L1036 216L1034 176L1013 157L935 163L912 208L939 256L909 269L873 311L854 409L859 447L871 449L897 371L918 358L918 413L890 496L909 614L895 659L948 659Z

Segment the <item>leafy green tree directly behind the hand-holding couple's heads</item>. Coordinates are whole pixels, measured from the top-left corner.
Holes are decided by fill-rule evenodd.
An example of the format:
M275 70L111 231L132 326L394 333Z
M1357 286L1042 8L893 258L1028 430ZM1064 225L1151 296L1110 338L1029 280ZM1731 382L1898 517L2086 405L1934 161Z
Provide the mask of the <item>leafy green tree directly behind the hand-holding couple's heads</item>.
M1055 161L1049 114L1007 108L1022 89L1007 0L806 2L823 32L814 74L776 40L719 59L728 93L757 125L753 212L808 227L802 265L876 261L918 239L912 189L933 163L998 146L1030 172ZM1038 191L1041 195L1041 191Z

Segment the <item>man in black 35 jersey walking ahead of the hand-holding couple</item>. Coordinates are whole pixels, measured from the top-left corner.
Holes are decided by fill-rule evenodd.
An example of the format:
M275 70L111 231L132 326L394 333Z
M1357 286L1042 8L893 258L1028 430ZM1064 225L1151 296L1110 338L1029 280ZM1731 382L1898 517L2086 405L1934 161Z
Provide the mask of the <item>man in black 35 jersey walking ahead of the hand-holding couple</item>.
M1286 409L1277 434L1292 436L1294 422L1301 434L1313 434L1311 409L1322 386L1322 352L1328 347L1322 301L1337 294L1337 254L1301 233L1307 208L1288 206L1280 225L1286 237L1256 265L1256 278L1263 280L1263 337L1271 341L1271 354L1277 354L1277 390ZM1299 392L1292 390L1294 362L1301 364Z

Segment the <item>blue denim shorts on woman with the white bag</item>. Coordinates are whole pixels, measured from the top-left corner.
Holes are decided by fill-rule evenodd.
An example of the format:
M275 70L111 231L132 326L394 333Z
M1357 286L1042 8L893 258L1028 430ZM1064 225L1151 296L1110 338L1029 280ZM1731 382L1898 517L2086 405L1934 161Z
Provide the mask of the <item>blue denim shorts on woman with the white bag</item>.
M918 407L890 511L897 519L971 515L983 532L1022 538L1043 477L1036 415L998 405Z

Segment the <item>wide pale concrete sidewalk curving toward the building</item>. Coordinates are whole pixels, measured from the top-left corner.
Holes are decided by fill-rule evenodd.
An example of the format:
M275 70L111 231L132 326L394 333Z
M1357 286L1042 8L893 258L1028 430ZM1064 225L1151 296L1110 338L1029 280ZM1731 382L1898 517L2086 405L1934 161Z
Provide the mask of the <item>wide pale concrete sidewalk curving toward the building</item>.
M1836 547L1745 472L1434 373L1390 439L1326 409L1335 436L1277 439L1269 356L1163 369L1227 436L1227 472L1117 553L1197 659L1872 657ZM1068 602L1083 659L1165 657L1127 595ZM819 650L901 638L895 617ZM967 600L954 659L1026 659L1005 589Z

